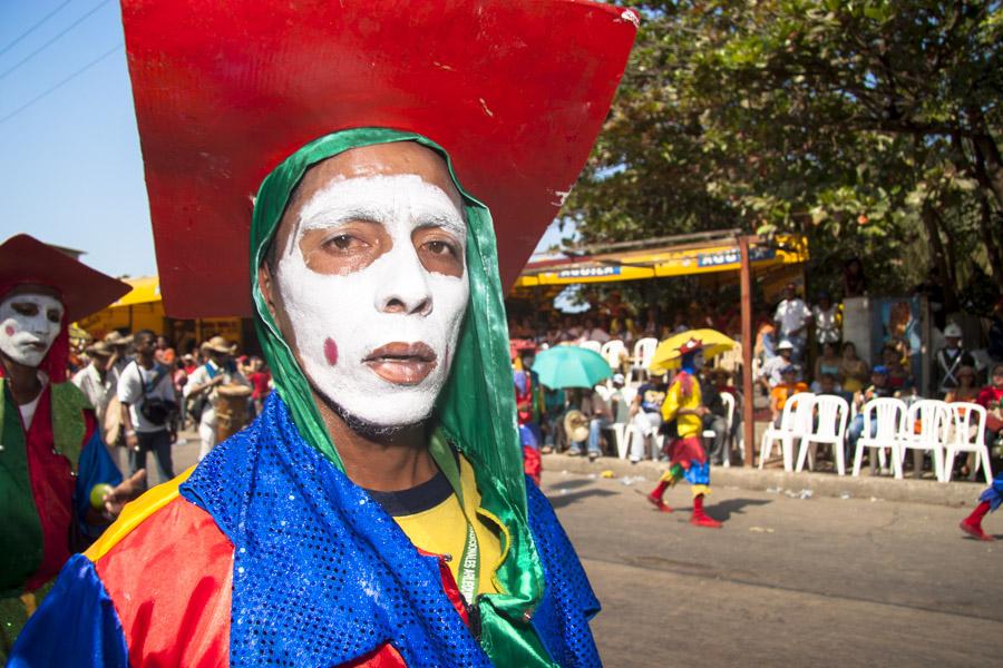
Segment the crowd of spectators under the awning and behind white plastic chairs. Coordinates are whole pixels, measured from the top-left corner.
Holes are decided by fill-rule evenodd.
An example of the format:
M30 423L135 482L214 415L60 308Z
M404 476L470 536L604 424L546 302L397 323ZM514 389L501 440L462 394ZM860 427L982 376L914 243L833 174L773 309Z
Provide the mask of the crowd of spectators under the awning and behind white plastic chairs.
M664 376L639 374L634 383L630 357L631 344L642 337L664 340L670 335L695 327L718 328L741 342L739 314L734 305L712 307L701 311L695 303L681 305L675 315L656 317L655 307L646 310L645 324L633 317L637 310L624 303L620 293L613 292L608 298L581 315L551 314L546 333L541 334L533 326L530 317L516 317L509 322L514 342L517 397L520 405L528 405L529 377L522 370L532 365L533 351L553 345L588 345L588 342L606 344L620 338L624 347L619 358L611 360L612 380L595 389L573 389L568 391L541 387L536 401L538 426L525 418L530 432L538 434L530 440L537 442L543 452L566 450L568 454L586 454L596 459L612 451L613 424L631 424L643 435L633 439L629 456L640 461L652 452L651 439L664 432L661 407L665 389L672 381L672 372ZM671 322L671 325L668 324ZM874 364L863 360L853 341L844 338L843 304L821 292L816 303L807 304L793 284L785 287L782 298L769 315L757 316L753 347L754 393L768 399L769 420L777 426L787 401L799 392L816 395L843 397L856 415L847 430L847 449L853 452L856 441L863 434L864 422L859 410L871 399L895 396L907 403L922 399L919 383L913 376L909 350L902 341L892 338L878 352ZM695 325L694 325L695 324ZM541 327L542 330L542 327ZM1003 343L996 341L1003 335L1003 301L996 305L993 328L990 332L987 351L990 358L1003 352ZM1001 439L1003 428L1003 358L989 364L976 365L971 352L963 347L962 327L948 322L942 333L943 345L933 355L929 385L935 389L933 397L948 403L973 402L984 406L989 413L986 443L991 445ZM997 348L1000 348L997 351ZM995 353L994 353L995 351ZM741 369L721 365L708 366L698 374L704 397L705 413L703 429L713 432L709 442L709 454L714 464L731 456L730 445L737 441L741 429L741 405L744 401L741 386ZM732 406L726 404L721 394L731 396ZM754 401L754 399L753 399ZM564 418L575 411L582 422L578 430L568 430ZM726 420L730 416L730 423ZM586 429L587 428L587 429ZM605 445L605 450L603 449ZM997 449L997 454L1003 450ZM533 455L530 455L533 456ZM654 456L658 456L655 453ZM960 473L970 474L971 462L958 463Z

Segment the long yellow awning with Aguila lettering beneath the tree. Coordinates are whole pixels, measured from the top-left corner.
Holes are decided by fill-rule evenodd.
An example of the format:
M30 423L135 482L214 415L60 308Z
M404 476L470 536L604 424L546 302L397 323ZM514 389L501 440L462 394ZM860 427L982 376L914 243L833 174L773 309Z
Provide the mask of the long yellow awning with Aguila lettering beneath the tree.
M808 242L802 236L778 235L772 243L753 244L749 249L756 269L798 264L808 259ZM530 263L516 281L516 287L569 285L573 283L611 283L691 276L713 272L737 272L741 267L738 243L710 242L604 253L576 262Z

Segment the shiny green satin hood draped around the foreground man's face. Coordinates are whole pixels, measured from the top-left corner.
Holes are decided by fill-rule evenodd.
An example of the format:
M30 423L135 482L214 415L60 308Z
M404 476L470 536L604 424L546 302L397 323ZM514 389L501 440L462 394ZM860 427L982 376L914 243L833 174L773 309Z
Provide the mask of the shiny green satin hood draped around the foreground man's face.
M466 193L446 151L412 132L358 128L321 137L299 149L262 183L251 224L251 292L255 326L264 356L273 370L275 390L289 406L302 436L335 466L344 470L313 401L309 381L269 312L257 286L257 269L285 212L289 198L314 164L352 148L415 141L446 160L464 199L467 219L467 275L470 301L449 380L438 397L435 421L471 462L483 508L508 529L509 544L496 577L505 593L478 598L481 646L493 657L514 665L553 665L526 621L539 601L543 569L526 519L523 458L515 426L515 396L508 357L495 230L488 208Z

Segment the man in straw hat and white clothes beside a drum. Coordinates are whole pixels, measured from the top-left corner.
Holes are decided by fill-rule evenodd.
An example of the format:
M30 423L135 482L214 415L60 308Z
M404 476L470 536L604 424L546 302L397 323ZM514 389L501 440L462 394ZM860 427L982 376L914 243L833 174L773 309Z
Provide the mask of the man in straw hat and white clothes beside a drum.
M216 445L216 399L221 385L251 386L251 382L237 370L233 347L222 336L213 336L201 346L206 363L192 372L184 386L185 403L197 406L193 415L198 418L198 461Z

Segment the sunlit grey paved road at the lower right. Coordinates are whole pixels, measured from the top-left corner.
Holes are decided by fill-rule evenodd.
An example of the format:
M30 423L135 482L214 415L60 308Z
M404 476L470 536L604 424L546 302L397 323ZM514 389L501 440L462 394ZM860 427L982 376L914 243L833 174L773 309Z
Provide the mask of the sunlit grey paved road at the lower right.
M962 538L964 511L719 488L708 530L688 490L662 514L650 485L544 475L603 602L606 666L1003 664L1003 542Z

